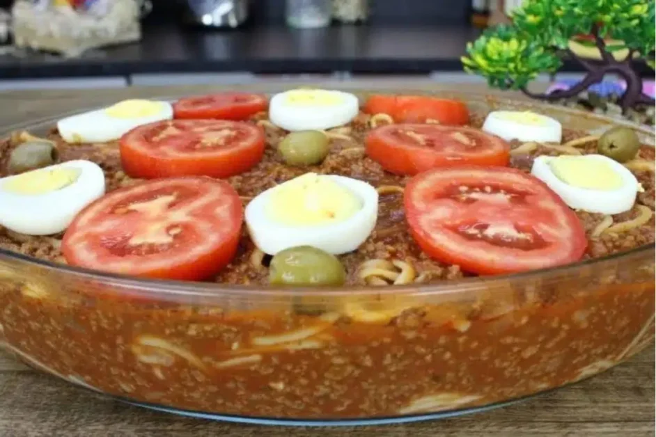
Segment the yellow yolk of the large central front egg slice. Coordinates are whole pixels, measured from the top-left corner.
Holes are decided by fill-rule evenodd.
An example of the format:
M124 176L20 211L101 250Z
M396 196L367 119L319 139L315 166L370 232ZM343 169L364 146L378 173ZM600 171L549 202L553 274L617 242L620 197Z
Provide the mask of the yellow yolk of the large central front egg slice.
M306 173L277 186L265 214L283 225L338 223L362 208L361 200L330 177Z

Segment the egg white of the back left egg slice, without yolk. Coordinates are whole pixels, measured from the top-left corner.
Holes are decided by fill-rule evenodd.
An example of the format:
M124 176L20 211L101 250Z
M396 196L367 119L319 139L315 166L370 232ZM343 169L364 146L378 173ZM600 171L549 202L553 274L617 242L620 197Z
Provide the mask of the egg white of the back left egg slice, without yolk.
M118 118L110 116L105 112L107 108L103 108L62 118L57 122L57 129L67 143L115 141L135 127L173 118L173 106L169 102L157 104L159 111L150 116Z

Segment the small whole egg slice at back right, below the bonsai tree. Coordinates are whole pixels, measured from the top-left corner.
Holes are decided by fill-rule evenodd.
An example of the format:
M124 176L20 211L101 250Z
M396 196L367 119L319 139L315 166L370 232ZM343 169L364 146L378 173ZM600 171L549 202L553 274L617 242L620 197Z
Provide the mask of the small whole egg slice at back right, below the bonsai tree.
M506 141L560 143L563 139L563 127L557 120L528 111L491 112L485 118L483 131Z

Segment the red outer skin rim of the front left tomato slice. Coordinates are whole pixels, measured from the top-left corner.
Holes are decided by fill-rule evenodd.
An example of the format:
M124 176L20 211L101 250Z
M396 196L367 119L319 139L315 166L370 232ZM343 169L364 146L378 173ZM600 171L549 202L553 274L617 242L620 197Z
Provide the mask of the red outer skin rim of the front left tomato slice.
M197 179L192 177L191 179ZM176 178L178 180L178 178ZM154 180L143 182L142 184L148 183L157 183L163 182L165 180ZM230 196L235 207L235 210L231 216L231 223L236 223L233 229L233 232L226 238L221 244L218 244L210 251L206 251L202 255L194 258L193 260L188 260L177 265L170 265L166 267L159 267L155 269L144 269L143 271L113 271L112 273L125 273L130 276L137 276L141 278L152 278L152 279L169 279L169 280L205 280L216 274L218 271L226 267L228 263L233 260L237 248L239 246L239 241L241 237L242 223L244 221L244 209L242 202L239 198L239 194L235 189L232 188L227 182L223 181L214 181L220 183L222 189L226 190L228 193L227 196ZM91 204L84 207L84 209L77 214L73 219L72 223L69 225L66 230L62 243L61 243L61 252L68 264L84 267L88 269L97 269L104 270L103 265L89 265L87 258L82 254L76 251L75 244L72 244L71 240L77 232L84 232L84 229L81 228L79 224L80 221L85 220L85 213L93 209L96 205L103 202L103 199L107 196L120 196L120 194L127 191L131 191L134 186L126 186L108 193L107 195L95 200ZM228 200L226 200L228 201ZM93 218L92 218L93 220ZM136 261L138 263L138 261Z

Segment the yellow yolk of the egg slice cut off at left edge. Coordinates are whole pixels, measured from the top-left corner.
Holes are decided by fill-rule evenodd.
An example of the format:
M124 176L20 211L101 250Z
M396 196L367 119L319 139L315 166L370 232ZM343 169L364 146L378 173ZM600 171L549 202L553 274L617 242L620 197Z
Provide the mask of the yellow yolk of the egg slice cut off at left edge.
M2 184L2 191L36 196L63 189L77 181L79 175L79 168L41 168L12 177Z

